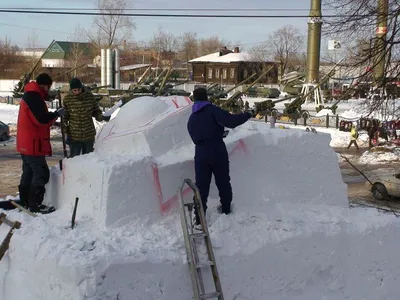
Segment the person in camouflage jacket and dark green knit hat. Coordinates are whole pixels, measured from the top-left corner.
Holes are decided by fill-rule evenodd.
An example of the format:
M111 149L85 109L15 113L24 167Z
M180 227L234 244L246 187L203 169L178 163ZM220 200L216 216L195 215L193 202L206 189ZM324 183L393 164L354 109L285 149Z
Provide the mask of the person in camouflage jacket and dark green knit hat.
M91 92L84 90L82 82L78 78L73 78L69 86L70 92L63 101L64 123L70 157L74 157L94 150L96 129L93 117L99 122L108 122L110 117L102 115L99 103Z

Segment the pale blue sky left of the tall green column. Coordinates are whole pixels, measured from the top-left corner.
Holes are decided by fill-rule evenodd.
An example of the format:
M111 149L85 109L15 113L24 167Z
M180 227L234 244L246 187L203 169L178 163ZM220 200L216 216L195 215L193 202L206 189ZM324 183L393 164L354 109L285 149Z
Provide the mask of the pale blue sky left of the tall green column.
M263 15L308 15L310 0L127 0L135 9L160 8L207 8L207 9L283 9L284 11L248 12ZM229 4L228 4L229 2ZM244 4L245 3L245 4ZM4 8L96 8L96 0L1 0L0 9ZM291 11L289 9L292 9ZM293 9L296 9L293 11ZM298 10L304 9L304 10ZM185 12L159 12L185 13ZM210 12L191 11L191 14ZM218 14L240 14L241 12L217 12ZM160 18L133 17L136 29L133 40L148 41L159 27L164 31L180 35L183 32L196 32L198 37L218 35L232 42L235 46L250 48L268 39L269 34L291 24L304 34L307 30L307 17L304 18ZM93 28L93 16L37 15L0 13L0 39L11 39L13 44L29 47L29 37L36 37L38 47L46 48L53 39L74 40L77 25Z

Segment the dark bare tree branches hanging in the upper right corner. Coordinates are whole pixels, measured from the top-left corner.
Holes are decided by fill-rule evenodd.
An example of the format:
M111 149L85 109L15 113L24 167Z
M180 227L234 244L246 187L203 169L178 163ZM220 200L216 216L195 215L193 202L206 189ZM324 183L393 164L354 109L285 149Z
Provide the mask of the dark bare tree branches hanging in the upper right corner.
M386 36L376 36L377 19L382 1L378 0L337 0L327 1L326 5L336 10L338 17L325 20L325 35L337 36L347 45L349 57L347 63L353 67L374 69L379 61L379 53L386 56L386 72L398 75L399 59L397 45L400 44L398 15L400 6L397 0L389 0L388 26ZM354 49L351 51L351 49ZM360 74L363 77L365 74Z

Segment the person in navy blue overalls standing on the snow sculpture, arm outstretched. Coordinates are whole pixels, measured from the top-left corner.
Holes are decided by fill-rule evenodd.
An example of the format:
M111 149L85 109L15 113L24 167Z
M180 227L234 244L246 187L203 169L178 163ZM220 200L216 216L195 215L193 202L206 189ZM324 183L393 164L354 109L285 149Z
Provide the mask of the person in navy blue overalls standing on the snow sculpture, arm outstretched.
M204 212L207 210L207 198L210 190L211 176L214 174L221 206L220 213L231 212L232 187L229 176L229 157L225 143L225 128L235 128L251 117L254 112L230 114L208 102L207 90L198 88L193 91L194 104L189 117L187 129L195 147L196 185L199 188ZM200 223L195 210L196 224Z

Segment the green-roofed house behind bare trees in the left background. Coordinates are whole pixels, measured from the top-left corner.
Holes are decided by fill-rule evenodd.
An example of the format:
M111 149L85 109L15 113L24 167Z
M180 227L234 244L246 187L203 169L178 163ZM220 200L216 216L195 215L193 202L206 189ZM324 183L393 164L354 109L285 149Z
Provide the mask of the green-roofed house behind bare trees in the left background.
M71 68L93 61L92 44L56 41L42 57L43 68Z

